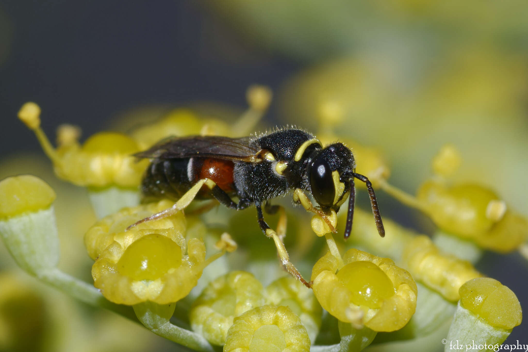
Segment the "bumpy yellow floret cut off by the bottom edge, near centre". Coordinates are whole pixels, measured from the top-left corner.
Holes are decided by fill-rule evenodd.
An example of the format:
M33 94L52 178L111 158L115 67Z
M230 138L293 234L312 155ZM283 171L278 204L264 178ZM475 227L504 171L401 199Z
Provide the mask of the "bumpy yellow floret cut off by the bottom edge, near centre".
M288 307L261 306L234 319L224 352L308 352L310 339Z

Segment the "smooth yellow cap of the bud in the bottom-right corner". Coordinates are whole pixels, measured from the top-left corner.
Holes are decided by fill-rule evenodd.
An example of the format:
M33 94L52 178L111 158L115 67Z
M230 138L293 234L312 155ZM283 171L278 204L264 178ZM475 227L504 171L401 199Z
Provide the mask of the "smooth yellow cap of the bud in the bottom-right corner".
M489 325L513 329L521 324L519 300L509 288L491 278L470 280L460 287L460 305Z

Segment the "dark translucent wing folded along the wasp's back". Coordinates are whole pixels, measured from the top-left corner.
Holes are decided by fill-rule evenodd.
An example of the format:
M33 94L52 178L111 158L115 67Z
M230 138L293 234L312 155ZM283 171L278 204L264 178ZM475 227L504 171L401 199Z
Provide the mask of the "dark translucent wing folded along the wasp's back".
M169 137L150 149L140 151L138 158L183 159L191 157L216 158L258 163L259 150L250 147L250 137L229 138L221 136Z

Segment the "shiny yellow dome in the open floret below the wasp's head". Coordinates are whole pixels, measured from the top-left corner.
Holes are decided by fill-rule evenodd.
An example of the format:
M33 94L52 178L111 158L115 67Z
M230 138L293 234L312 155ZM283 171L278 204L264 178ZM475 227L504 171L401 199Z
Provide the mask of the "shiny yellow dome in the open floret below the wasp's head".
M337 272L339 281L352 292L352 303L357 306L380 308L383 301L395 293L394 285L378 265L357 261L346 264Z

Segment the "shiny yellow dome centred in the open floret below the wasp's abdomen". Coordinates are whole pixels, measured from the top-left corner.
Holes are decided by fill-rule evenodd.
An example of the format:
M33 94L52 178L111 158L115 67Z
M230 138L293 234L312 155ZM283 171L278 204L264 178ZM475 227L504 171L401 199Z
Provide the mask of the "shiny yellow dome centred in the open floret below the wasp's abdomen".
M180 246L168 237L152 234L128 246L117 262L117 270L133 280L156 280L181 264Z

